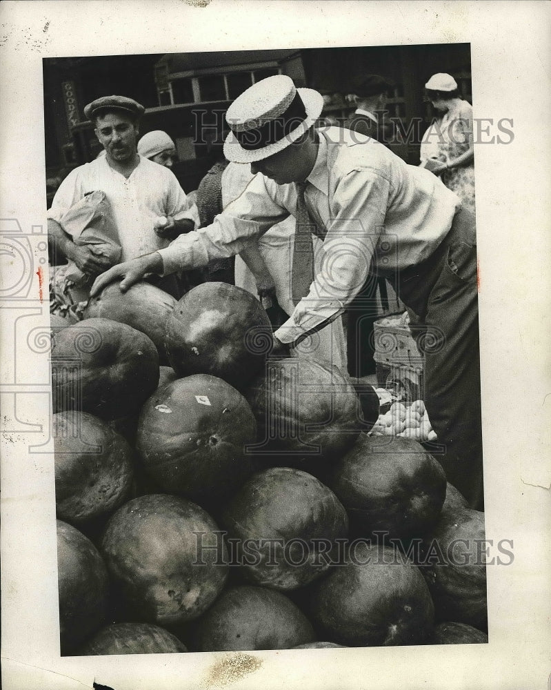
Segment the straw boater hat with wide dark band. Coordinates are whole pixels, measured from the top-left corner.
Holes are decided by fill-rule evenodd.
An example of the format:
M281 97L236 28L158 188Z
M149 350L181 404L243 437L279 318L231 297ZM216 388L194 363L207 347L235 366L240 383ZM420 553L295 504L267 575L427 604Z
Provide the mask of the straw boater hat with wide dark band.
M230 134L224 155L234 163L261 161L287 148L314 124L323 97L296 88L290 77L262 79L237 97L226 112Z

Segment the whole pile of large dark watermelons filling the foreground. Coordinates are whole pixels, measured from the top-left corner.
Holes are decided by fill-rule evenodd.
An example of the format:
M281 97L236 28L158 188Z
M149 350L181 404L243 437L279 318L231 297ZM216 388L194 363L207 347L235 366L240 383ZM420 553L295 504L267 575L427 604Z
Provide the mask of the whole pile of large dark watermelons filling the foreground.
M62 655L488 640L484 516L404 433L421 402L271 343L222 283L52 327Z

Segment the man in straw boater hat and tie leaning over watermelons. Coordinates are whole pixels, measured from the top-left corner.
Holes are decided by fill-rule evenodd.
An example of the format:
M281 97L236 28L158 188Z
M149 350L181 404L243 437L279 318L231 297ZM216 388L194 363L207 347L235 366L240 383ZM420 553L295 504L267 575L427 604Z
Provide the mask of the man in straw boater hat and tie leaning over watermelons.
M228 108L230 161L255 177L213 223L101 275L126 290L146 273L172 273L239 253L251 239L294 215L296 307L274 333L274 352L297 344L343 313L373 259L425 337L425 405L448 475L482 506L477 255L474 218L432 173L408 166L382 144L339 127L316 128L323 99L268 77ZM314 276L312 235L323 239Z

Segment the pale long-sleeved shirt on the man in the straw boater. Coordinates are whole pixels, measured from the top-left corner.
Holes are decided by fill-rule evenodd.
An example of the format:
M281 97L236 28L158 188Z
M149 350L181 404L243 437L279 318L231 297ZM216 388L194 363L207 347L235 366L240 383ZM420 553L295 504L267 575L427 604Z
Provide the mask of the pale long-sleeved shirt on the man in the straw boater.
M310 294L275 334L285 343L342 313L361 290L373 256L387 274L430 257L459 207L431 172L408 166L377 141L339 127L317 132L305 201L324 237L324 260ZM294 215L296 206L294 184L256 175L212 225L159 250L165 273L239 253L252 237Z

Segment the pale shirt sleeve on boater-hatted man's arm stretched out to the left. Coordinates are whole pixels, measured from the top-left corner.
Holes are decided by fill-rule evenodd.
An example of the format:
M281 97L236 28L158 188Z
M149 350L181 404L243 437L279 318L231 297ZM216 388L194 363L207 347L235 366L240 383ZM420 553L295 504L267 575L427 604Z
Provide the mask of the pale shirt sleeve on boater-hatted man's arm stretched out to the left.
M272 225L288 217L288 208L277 197L277 185L256 175L241 196L214 217L211 225L180 235L170 246L158 250L163 259L163 275L201 268L214 259L239 254Z

